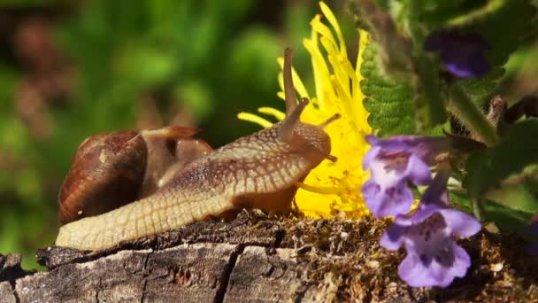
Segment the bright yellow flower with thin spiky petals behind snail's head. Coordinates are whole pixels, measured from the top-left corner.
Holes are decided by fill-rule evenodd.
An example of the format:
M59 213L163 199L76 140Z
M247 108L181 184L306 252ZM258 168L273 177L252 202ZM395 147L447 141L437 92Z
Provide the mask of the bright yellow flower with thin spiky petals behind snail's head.
M323 16L317 15L311 20L311 39L304 39L304 47L311 54L315 96L309 94L295 70L293 81L300 97L311 99L301 120L319 124L334 113L342 114L340 120L335 120L326 128L331 137L331 154L338 160L331 162L325 159L311 170L304 183L297 184L296 204L304 214L310 216L329 217L343 213L350 217L361 217L367 214L360 194L360 188L367 178L367 173L362 169L362 159L368 150L365 135L372 133L372 128L366 121L368 113L363 106L365 96L359 82L363 80L360 74L362 51L369 37L364 31L357 32L359 51L357 65L353 67L333 12L323 2L319 6ZM321 21L322 17L325 17L329 27ZM278 62L282 68L283 58L279 58ZM279 82L283 89L282 74ZM284 99L282 91L278 96ZM258 111L272 115L277 120L284 118L284 113L271 107L261 107ZM273 124L252 113L240 113L238 118L265 128Z

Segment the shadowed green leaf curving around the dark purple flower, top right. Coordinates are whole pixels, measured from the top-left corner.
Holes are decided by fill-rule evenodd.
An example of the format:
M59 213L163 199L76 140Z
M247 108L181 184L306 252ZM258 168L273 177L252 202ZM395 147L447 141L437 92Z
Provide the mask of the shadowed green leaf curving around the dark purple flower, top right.
M430 29L455 28L457 31L473 32L483 36L490 45L486 52L489 63L494 66L480 79L459 80L460 85L479 105L491 97L497 82L503 76L503 66L523 40L533 33L536 9L531 1L442 1L427 0L421 11L421 19Z

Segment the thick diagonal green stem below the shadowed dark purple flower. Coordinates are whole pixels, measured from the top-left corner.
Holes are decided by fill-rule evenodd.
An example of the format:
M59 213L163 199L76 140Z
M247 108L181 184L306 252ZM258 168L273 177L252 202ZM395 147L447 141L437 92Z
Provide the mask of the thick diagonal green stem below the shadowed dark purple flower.
M496 144L496 129L458 84L454 84L450 89L448 109L477 139L489 146Z

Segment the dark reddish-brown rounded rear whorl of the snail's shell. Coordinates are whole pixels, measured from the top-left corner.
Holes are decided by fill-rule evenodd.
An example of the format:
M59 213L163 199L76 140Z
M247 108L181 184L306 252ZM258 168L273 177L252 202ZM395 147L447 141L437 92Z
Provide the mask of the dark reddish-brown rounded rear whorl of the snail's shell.
M142 186L147 148L135 131L90 136L73 157L59 190L62 224L135 201Z

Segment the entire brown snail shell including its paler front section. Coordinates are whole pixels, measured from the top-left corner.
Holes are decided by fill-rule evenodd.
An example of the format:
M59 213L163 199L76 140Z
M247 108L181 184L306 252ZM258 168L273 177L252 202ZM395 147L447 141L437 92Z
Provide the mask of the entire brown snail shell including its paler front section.
M90 136L76 151L58 194L62 224L146 197L211 146L196 128L116 131Z

